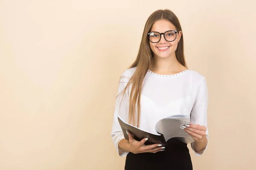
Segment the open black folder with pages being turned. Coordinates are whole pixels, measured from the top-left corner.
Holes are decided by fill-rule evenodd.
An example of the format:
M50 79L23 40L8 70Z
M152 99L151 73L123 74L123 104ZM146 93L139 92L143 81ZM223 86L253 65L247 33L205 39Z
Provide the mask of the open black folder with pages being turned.
M126 140L129 140L129 136L126 133L126 130L128 130L137 141L148 138L148 140L145 142L145 145L159 143L164 147L168 147L167 141L171 138L179 139L181 142L186 144L192 143L194 141L194 139L192 139L188 133L180 128L180 126L190 123L190 118L187 115L172 115L159 120L155 125L157 133L150 133L130 125L120 116L118 116L118 121Z

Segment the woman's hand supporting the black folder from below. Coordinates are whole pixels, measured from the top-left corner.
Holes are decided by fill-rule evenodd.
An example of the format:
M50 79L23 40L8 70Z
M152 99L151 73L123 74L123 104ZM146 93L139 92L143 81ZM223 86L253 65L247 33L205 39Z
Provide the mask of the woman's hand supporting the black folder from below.
M130 132L128 132L129 136L129 151L132 153L145 153L145 152L151 152L151 153L157 153L159 151L163 151L165 147L161 147L162 144L150 144L150 145L145 145L144 143L148 140L148 138L144 138L141 141L137 141L133 138Z

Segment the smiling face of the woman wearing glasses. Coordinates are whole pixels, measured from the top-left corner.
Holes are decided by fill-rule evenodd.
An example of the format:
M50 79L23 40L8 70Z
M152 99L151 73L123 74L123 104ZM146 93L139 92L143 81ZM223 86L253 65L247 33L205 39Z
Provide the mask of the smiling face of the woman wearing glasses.
M173 30L177 31L175 26L168 20L161 19L154 23L152 26L152 29L150 32L159 32L159 33L165 33L166 31ZM175 55L175 51L177 49L178 42L180 41L182 32L177 32L176 39L172 42L169 42L172 40L172 37L175 38L174 32L168 32L166 33L166 39L169 41L166 41L166 39L163 37L163 34L161 35L161 39L157 43L153 43L149 41L149 45L151 50L154 52L154 56L160 57L160 58L167 58L171 57L172 55ZM150 36L149 36L150 37ZM151 34L151 40L157 39L157 34Z

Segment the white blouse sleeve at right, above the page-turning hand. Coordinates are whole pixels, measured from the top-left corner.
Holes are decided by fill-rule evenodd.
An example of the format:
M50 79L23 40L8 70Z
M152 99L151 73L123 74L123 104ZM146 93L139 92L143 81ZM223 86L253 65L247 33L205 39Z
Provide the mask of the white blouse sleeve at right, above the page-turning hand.
M207 89L207 82L204 77L197 90L195 103L193 105L191 115L190 115L190 120L192 124L198 124L201 126L205 126L207 128L206 136L207 136L207 139L209 140L209 133L208 133L208 127L207 127L207 107L208 107L208 89ZM193 143L191 143L192 150L194 150L197 156L201 156L206 150L207 146L208 146L208 142L204 150L202 150L201 152L196 152L193 146Z

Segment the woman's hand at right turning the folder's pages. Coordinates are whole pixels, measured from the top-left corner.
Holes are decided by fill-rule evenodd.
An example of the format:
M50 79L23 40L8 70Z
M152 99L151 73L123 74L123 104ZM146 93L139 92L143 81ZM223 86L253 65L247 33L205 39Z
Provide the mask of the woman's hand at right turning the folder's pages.
M196 142L207 140L205 126L189 124L181 126L180 128L185 130Z

